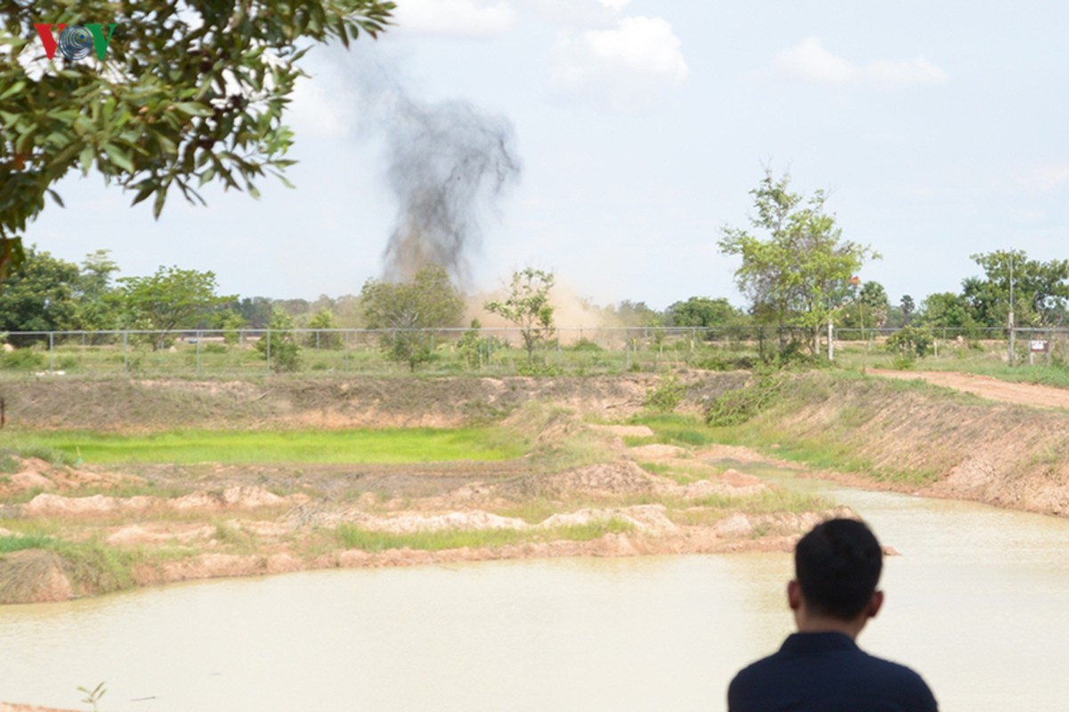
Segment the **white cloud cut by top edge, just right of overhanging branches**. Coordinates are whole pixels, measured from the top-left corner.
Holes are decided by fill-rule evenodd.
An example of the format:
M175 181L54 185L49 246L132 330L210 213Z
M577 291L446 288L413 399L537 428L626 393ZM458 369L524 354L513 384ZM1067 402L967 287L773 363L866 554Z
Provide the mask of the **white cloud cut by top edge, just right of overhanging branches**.
M393 13L396 32L461 37L503 34L517 17L505 0L404 0Z

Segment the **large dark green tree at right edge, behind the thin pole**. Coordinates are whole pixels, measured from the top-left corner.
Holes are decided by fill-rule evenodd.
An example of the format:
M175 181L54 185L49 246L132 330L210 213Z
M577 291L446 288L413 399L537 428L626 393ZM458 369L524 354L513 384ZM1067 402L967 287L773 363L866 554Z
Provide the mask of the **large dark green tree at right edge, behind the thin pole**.
M1024 250L996 250L971 256L983 277L962 282L962 297L982 326L1006 326L1009 319L1010 261L1013 263L1013 322L1018 326L1054 326L1065 322L1069 305L1069 260L1029 260Z

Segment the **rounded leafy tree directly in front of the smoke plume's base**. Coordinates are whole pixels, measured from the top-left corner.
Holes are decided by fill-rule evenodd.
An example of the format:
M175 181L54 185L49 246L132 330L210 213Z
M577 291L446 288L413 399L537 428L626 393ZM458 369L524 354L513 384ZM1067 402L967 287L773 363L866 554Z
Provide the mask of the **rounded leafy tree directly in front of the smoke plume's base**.
M368 328L387 329L378 338L387 357L412 371L433 354L424 329L456 326L464 313L464 298L440 265L423 267L410 282L369 279L360 298Z

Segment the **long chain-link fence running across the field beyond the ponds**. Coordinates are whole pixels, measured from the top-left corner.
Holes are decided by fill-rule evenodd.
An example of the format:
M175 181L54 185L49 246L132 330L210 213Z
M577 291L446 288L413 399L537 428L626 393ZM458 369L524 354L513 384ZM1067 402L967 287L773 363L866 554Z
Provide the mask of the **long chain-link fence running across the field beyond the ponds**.
M985 349L1014 362L1069 363L1069 330L925 327L934 354ZM884 353L895 329L830 329L818 353ZM0 372L216 376L306 373L482 371L493 374L656 371L681 366L748 368L812 334L774 327L559 327L528 351L518 328L195 329L19 331L5 335ZM828 349L831 341L832 349Z

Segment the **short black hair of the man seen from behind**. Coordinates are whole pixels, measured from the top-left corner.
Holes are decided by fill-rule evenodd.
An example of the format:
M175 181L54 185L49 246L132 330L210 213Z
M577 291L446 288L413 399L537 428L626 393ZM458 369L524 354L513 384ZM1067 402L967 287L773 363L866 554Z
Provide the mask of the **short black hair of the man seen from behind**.
M828 520L794 547L794 575L815 614L853 620L865 610L883 569L876 535L857 520Z

